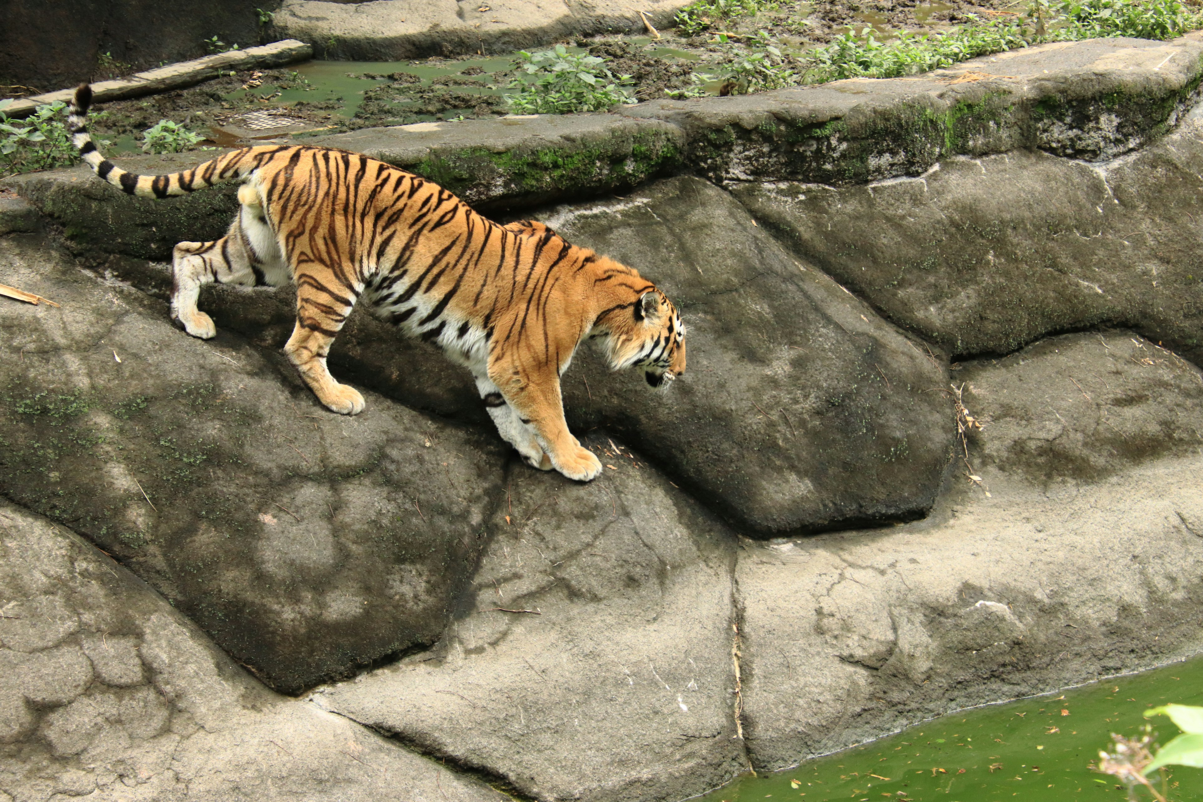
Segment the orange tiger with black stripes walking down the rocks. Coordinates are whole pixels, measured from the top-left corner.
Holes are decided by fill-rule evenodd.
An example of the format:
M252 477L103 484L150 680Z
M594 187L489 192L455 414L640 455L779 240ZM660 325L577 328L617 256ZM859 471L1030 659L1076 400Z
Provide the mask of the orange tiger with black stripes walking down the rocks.
M106 159L88 133L91 88L67 118L71 141L101 179L165 198L241 180L226 236L172 251L171 317L192 337L217 334L197 309L201 287L296 285L284 354L326 409L363 411L363 396L326 357L356 303L431 343L473 374L502 439L540 470L576 481L602 463L568 430L561 376L597 340L612 370L641 368L652 387L686 370L676 307L635 268L565 242L533 221L499 225L438 184L334 148L268 144L191 170L137 176Z

